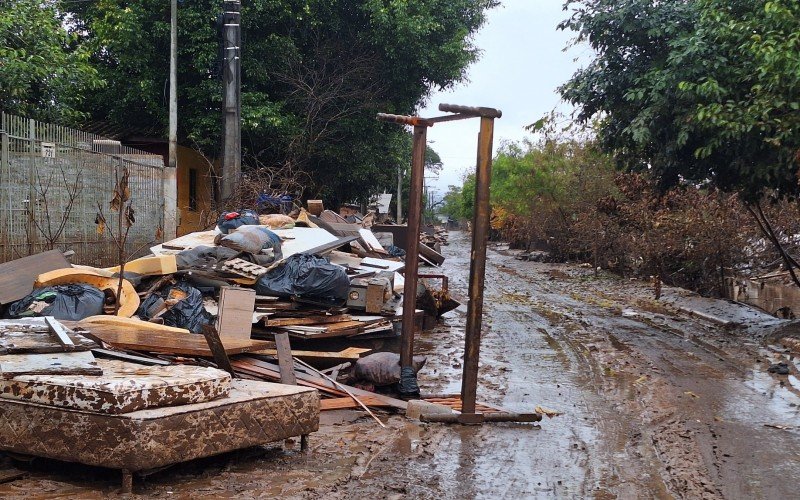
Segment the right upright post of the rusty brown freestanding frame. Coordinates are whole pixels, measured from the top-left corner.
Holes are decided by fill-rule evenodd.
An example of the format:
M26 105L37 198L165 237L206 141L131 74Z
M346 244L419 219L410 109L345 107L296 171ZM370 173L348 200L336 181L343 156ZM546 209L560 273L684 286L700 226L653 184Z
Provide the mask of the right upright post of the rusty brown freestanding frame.
M492 179L494 118L481 117L478 136L478 166L475 182L475 213L472 219L472 255L469 269L469 305L464 341L464 372L461 385L462 415L475 413L478 389L478 358L481 347L483 283L486 275L486 242L489 236L489 183Z

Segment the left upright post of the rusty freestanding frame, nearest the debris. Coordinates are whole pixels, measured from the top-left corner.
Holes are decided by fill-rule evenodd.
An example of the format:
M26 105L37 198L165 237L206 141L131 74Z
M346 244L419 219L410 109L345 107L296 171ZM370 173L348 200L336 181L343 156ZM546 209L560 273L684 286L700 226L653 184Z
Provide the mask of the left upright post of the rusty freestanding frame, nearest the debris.
M408 197L408 244L406 245L405 284L403 287L403 331L400 338L400 393L418 396L419 386L411 369L414 356L414 323L417 303L417 271L419 269L419 231L422 183L425 178L425 141L427 125L414 126L411 153L411 190ZM413 380L412 380L413 379Z

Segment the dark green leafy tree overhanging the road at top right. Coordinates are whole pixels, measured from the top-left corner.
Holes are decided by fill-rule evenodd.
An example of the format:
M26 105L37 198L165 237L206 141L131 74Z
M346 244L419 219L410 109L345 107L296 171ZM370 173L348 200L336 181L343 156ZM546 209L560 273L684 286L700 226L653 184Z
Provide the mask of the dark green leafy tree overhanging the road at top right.
M628 169L663 189L710 182L796 195L800 5L583 0L561 28L596 59L561 87Z

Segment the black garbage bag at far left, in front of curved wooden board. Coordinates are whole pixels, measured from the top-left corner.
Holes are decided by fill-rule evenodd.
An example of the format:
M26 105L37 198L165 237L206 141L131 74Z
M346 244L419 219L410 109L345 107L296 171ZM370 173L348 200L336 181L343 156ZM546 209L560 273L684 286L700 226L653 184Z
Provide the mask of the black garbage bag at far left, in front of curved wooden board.
M91 285L73 283L37 288L28 296L14 302L6 318L53 316L56 319L80 321L103 314L105 293Z

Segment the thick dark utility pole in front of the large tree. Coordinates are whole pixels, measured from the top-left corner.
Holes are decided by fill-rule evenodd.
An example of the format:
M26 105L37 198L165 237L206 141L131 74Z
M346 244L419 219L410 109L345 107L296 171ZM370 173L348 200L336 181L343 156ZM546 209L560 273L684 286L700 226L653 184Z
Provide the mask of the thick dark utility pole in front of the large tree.
M222 85L224 135L222 146L221 200L232 198L242 175L242 124L241 124L241 2L225 0L222 14Z

